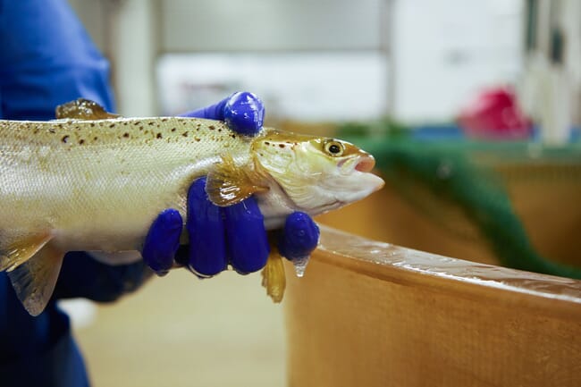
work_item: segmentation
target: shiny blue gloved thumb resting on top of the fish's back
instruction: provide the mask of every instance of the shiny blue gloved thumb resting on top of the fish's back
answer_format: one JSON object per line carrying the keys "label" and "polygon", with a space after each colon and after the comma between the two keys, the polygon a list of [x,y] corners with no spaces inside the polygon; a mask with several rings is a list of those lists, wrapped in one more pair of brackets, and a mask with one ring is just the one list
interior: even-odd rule
{"label": "shiny blue gloved thumb resting on top of the fish's back", "polygon": [[224,121],[231,130],[242,135],[254,136],[262,129],[265,106],[256,95],[242,91],[224,98],[215,105],[181,116]]}

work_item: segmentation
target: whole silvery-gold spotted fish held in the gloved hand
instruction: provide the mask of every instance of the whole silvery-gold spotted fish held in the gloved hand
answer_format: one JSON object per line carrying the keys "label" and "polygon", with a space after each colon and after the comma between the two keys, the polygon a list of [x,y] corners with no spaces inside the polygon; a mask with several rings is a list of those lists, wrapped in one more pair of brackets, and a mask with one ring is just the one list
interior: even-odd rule
{"label": "whole silvery-gold spotted fish held in the gloved hand", "polygon": [[[139,251],[161,211],[186,219],[189,186],[201,176],[217,206],[254,195],[266,230],[294,211],[323,214],[383,187],[373,156],[341,139],[125,118],[82,98],[59,105],[52,121],[0,120],[0,136],[0,271],[30,315],[46,307],[64,254]],[[280,301],[284,267],[271,257],[263,284]]]}

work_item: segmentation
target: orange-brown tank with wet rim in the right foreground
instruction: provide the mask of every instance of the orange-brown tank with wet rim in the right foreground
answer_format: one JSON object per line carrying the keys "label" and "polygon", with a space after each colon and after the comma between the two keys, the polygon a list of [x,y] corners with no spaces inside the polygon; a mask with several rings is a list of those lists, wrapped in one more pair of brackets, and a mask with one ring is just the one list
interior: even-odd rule
{"label": "orange-brown tank with wet rim in the right foreground", "polygon": [[322,228],[288,277],[290,386],[581,385],[581,282]]}

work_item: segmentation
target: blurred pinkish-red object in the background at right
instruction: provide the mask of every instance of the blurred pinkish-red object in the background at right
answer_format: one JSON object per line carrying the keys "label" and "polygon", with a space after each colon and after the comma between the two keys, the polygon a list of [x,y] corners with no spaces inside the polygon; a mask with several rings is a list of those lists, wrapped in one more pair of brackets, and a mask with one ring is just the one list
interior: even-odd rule
{"label": "blurred pinkish-red object in the background at right", "polygon": [[461,110],[458,122],[468,136],[478,139],[527,139],[533,132],[512,88],[484,90]]}

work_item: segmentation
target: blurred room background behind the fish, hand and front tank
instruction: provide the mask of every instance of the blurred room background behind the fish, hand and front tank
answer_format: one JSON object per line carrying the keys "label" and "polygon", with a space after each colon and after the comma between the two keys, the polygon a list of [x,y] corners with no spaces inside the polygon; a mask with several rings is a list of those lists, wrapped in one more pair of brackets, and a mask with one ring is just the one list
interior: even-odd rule
{"label": "blurred room background behind the fish, hand and front tank", "polygon": [[[248,90],[269,125],[369,148],[386,189],[320,222],[479,262],[580,264],[577,0],[70,3],[123,115]],[[282,307],[259,282],[171,273],[111,306],[69,303],[95,385],[284,385]]]}

